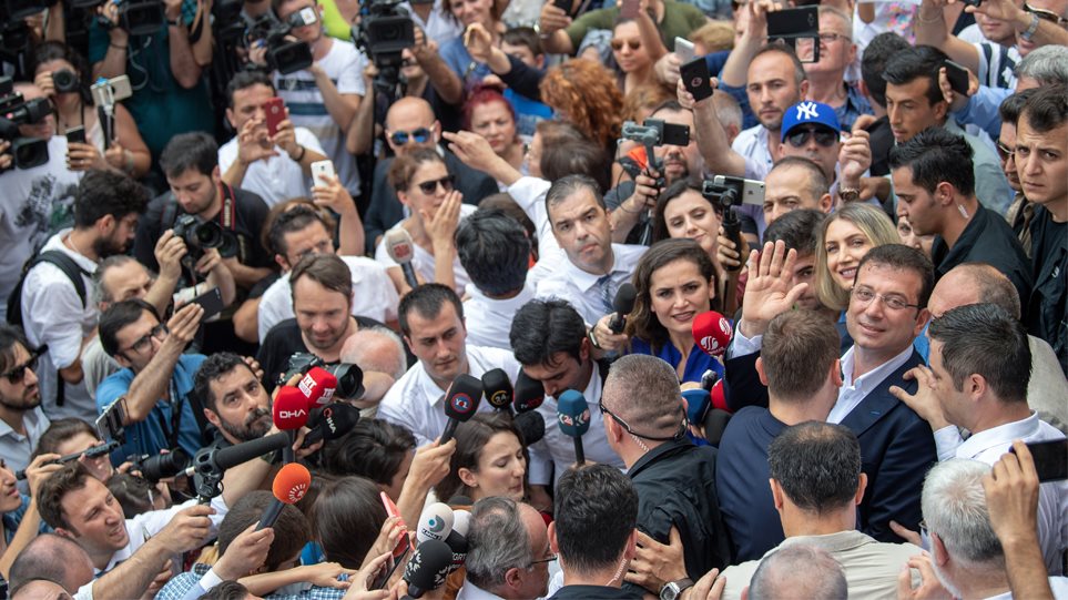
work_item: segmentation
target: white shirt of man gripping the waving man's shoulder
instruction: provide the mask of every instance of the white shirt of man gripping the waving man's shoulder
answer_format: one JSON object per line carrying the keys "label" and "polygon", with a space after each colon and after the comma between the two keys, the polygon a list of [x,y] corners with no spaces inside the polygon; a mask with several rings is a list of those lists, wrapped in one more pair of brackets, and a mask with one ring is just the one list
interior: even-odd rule
{"label": "white shirt of man gripping the waving man's shoulder", "polygon": [[[966,440],[953,425],[935,431],[938,460],[968,458],[990,466],[1009,451],[1016,439],[1030,444],[1065,439],[1065,435],[1039,419],[1034,410],[1026,419],[972,434]],[[1068,481],[1047,481],[1039,487],[1038,540],[1049,574],[1062,574],[1061,552],[1068,548]]]}

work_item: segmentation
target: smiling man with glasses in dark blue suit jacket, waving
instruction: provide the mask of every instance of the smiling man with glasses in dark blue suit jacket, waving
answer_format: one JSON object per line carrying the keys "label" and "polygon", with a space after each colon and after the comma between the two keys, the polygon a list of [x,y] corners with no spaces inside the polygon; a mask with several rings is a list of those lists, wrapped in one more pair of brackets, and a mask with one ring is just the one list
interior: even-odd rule
{"label": "smiling man with glasses in dark blue suit jacket, waving", "polygon": [[[750,266],[742,318],[726,363],[728,404],[734,409],[767,404],[767,390],[747,372],[761,337],[775,315],[793,307],[806,284],[790,287],[794,252],[780,243],[764,246]],[[842,356],[843,385],[828,423],[842,424],[861,443],[868,486],[860,506],[858,527],[881,540],[901,542],[889,527],[895,520],[918,527],[924,474],[936,461],[935,443],[916,413],[891,393],[914,390],[905,373],[923,364],[913,338],[927,323],[927,298],[934,266],[922,252],[899,244],[873,248],[861,261],[846,311],[854,345]],[[733,372],[733,373],[732,373]],[[755,385],[754,385],[755,384]]]}

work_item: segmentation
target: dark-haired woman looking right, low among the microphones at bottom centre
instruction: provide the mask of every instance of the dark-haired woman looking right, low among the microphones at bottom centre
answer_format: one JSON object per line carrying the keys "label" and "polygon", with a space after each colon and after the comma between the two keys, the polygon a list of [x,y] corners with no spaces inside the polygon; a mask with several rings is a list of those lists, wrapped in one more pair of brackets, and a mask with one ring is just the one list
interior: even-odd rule
{"label": "dark-haired woman looking right, low among the microphones at bottom centre", "polygon": [[526,495],[523,439],[510,415],[479,413],[456,428],[449,474],[435,486],[443,501],[461,495],[477,502],[490,496],[521,500]]}

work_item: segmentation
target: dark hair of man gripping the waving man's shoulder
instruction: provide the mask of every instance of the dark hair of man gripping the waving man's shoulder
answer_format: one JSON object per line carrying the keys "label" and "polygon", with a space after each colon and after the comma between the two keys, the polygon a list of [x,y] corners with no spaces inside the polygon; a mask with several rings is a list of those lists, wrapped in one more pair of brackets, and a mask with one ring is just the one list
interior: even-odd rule
{"label": "dark hair of man gripping the waving man's shoulder", "polygon": [[1027,403],[1030,343],[1024,325],[1005,308],[990,303],[950,308],[930,322],[927,335],[942,345],[942,364],[957,391],[967,377],[980,375],[1003,401]]}

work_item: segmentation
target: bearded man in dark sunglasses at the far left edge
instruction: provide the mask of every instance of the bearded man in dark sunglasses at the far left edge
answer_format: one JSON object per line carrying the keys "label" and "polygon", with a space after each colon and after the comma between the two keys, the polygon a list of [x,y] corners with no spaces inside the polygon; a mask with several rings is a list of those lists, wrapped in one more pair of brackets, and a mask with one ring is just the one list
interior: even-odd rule
{"label": "bearded man in dark sunglasses at the far left edge", "polygon": [[[0,456],[12,471],[30,464],[30,451],[48,429],[38,387],[38,354],[18,327],[0,324]],[[28,494],[23,479],[19,490]]]}

